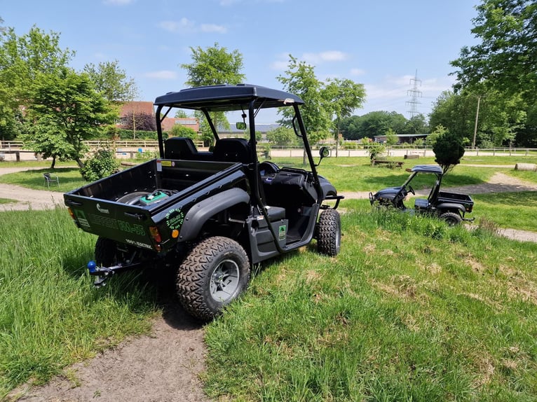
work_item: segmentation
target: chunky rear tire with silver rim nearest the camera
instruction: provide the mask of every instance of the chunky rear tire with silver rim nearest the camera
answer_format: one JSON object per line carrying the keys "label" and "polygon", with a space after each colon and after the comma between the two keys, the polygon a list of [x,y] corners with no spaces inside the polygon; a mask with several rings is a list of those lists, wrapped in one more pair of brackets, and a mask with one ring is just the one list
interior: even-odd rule
{"label": "chunky rear tire with silver rim nearest the camera", "polygon": [[177,296],[184,309],[210,321],[238,298],[250,282],[243,247],[228,237],[208,237],[186,255],[177,270]]}

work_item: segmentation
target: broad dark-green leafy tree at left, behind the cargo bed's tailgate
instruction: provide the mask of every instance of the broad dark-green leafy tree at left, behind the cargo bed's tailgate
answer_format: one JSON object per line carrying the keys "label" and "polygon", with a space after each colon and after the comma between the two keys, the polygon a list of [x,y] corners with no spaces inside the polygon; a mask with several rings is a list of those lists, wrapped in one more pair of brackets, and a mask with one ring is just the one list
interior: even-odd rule
{"label": "broad dark-green leafy tree at left, behind the cargo bed's tailgate", "polygon": [[[115,114],[107,101],[96,92],[87,74],[76,74],[62,68],[59,74],[40,74],[30,93],[28,118],[40,128],[40,134],[51,137],[51,144],[64,149],[58,155],[76,160],[83,167],[86,147],[83,141],[92,137],[104,125],[114,121]],[[39,148],[39,138],[28,134],[27,140]],[[57,137],[55,137],[57,136]],[[51,153],[56,151],[51,150]]]}

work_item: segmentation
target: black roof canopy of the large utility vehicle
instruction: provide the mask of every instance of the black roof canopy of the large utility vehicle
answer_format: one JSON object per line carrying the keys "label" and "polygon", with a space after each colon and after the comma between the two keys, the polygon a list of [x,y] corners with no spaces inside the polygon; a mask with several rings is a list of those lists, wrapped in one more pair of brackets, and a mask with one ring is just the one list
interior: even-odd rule
{"label": "black roof canopy of the large utility vehicle", "polygon": [[223,84],[168,92],[166,95],[157,97],[155,105],[208,111],[233,111],[247,109],[252,100],[254,100],[254,109],[304,104],[304,101],[297,95],[282,90],[250,84]]}

